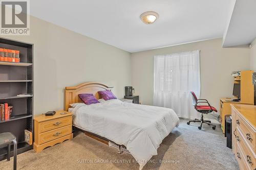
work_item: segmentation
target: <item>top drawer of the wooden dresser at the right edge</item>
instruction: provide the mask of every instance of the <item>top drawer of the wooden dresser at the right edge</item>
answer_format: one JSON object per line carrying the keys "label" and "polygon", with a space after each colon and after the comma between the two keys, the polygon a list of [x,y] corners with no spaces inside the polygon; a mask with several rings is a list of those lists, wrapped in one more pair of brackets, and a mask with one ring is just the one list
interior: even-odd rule
{"label": "top drawer of the wooden dresser at the right edge", "polygon": [[239,114],[236,115],[236,124],[240,128],[242,135],[244,136],[246,141],[249,143],[252,150],[255,152],[256,151],[255,133],[252,132],[252,130],[248,127],[248,125],[244,122],[244,120],[241,118]]}

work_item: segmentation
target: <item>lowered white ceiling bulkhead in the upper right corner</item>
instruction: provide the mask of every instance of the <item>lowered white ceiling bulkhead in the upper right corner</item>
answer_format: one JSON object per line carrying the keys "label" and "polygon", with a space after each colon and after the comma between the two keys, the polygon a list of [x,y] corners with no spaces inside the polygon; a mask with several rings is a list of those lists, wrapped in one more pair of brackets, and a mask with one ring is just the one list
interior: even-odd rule
{"label": "lowered white ceiling bulkhead in the upper right corner", "polygon": [[223,47],[249,44],[256,38],[256,1],[237,0],[234,3]]}

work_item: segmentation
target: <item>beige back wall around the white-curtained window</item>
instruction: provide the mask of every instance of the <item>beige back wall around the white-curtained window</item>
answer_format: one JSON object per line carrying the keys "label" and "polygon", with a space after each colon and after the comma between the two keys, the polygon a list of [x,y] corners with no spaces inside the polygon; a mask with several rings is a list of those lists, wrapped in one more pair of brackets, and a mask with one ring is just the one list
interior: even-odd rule
{"label": "beige back wall around the white-curtained window", "polygon": [[132,85],[142,104],[153,105],[154,55],[200,50],[201,97],[219,109],[219,99],[232,95],[231,72],[249,69],[250,50],[245,47],[222,48],[222,39],[132,53]]}

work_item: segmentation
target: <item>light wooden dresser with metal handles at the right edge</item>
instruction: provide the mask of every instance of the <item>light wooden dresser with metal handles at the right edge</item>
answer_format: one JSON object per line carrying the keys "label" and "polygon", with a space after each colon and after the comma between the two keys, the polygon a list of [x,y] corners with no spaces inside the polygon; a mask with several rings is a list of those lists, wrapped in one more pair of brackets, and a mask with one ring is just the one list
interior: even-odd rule
{"label": "light wooden dresser with metal handles at the right edge", "polygon": [[256,169],[256,106],[231,104],[232,151],[240,170]]}

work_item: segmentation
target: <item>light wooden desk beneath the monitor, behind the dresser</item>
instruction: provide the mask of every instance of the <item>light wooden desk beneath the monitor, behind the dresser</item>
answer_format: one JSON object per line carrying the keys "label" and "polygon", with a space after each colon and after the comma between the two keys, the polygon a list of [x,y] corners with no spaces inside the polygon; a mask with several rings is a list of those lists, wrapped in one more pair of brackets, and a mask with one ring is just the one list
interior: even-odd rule
{"label": "light wooden desk beneath the monitor, behind the dresser", "polygon": [[225,133],[225,115],[231,114],[231,106],[230,104],[246,104],[246,105],[252,105],[247,104],[243,102],[233,102],[230,98],[221,98],[220,99],[220,123],[221,123],[221,129],[222,132]]}

